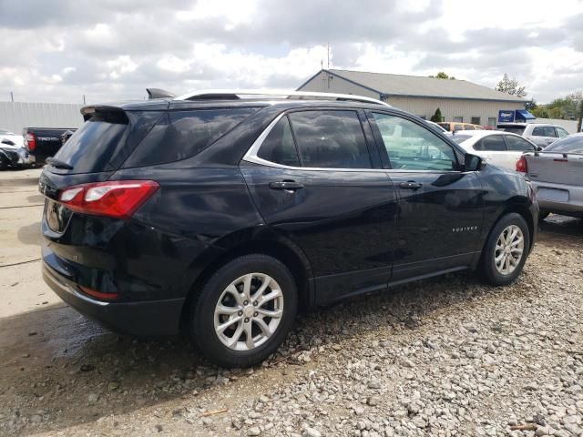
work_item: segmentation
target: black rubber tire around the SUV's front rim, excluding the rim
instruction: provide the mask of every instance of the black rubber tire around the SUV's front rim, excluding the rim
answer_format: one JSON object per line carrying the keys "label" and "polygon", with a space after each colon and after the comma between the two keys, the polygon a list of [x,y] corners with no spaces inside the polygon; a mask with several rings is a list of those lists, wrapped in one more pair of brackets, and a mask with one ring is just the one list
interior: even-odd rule
{"label": "black rubber tire around the SUV's front rim, excluding the rim", "polygon": [[[517,225],[520,230],[522,230],[523,238],[525,239],[524,251],[522,259],[518,263],[517,269],[515,269],[509,275],[503,275],[496,269],[496,263],[494,260],[494,252],[496,250],[496,241],[502,231],[510,225]],[[527,262],[528,252],[530,251],[530,230],[526,220],[517,213],[506,214],[504,217],[499,219],[494,225],[494,228],[490,232],[490,235],[486,241],[486,247],[482,253],[482,270],[484,276],[488,282],[493,285],[506,285],[514,280],[522,272],[522,269]]]}

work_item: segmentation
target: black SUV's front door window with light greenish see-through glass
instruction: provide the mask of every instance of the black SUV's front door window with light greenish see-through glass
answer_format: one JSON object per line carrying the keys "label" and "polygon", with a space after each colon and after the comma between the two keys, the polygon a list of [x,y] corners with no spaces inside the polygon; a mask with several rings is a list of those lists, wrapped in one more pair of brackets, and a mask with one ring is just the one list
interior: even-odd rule
{"label": "black SUV's front door window with light greenish see-through glass", "polygon": [[428,129],[405,118],[373,112],[391,168],[451,171],[457,168],[454,149]]}

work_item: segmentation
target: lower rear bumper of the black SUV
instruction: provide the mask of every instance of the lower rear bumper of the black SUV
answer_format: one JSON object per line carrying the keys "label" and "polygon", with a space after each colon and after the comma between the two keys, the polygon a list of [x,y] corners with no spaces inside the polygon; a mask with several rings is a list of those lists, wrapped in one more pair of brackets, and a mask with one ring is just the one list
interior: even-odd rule
{"label": "lower rear bumper of the black SUV", "polygon": [[109,330],[138,336],[173,335],[179,332],[184,299],[139,302],[104,302],[82,294],[77,284],[50,267],[43,259],[43,279],[75,310]]}

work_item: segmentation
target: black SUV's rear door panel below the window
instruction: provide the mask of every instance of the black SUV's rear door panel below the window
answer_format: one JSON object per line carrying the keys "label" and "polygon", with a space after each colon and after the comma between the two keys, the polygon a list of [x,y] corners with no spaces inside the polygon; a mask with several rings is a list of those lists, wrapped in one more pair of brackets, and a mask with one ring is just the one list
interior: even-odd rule
{"label": "black SUV's rear door panel below the window", "polygon": [[[396,219],[396,195],[384,170],[271,168],[245,161],[240,169],[265,222],[304,251],[314,277],[336,282],[332,276],[350,273],[349,283],[338,284],[338,295],[373,286],[371,275],[384,287],[394,259]],[[280,181],[303,187],[270,188]],[[333,292],[326,290],[326,298]]]}

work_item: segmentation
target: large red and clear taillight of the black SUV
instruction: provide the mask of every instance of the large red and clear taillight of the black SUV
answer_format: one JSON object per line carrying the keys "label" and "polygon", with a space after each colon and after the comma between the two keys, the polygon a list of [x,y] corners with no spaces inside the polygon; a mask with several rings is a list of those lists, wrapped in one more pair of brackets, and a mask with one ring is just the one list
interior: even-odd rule
{"label": "large red and clear taillight of the black SUV", "polygon": [[81,214],[129,219],[158,188],[153,180],[97,182],[64,188],[58,200]]}

